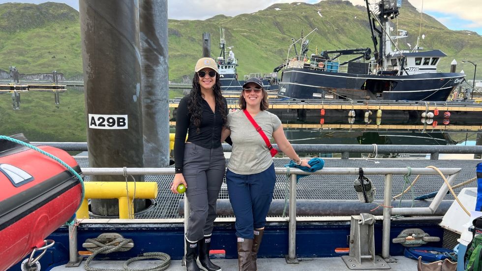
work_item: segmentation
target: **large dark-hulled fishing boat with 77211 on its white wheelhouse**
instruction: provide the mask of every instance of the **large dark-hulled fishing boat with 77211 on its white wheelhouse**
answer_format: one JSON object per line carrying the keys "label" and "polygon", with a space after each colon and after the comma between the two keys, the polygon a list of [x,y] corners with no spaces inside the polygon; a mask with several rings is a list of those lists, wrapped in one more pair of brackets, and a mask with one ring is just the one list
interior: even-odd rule
{"label": "large dark-hulled fishing boat with 77211 on its white wheelhouse", "polygon": [[[365,3],[373,51],[371,48],[356,48],[308,55],[308,34],[290,46],[287,60],[274,69],[275,72],[282,71],[279,97],[447,100],[463,82],[465,74],[439,71],[440,59],[447,56],[440,50],[424,50],[418,42],[413,50],[399,49],[395,40],[406,38],[407,32],[399,30],[396,36],[392,36],[390,21],[398,17],[401,0],[382,0],[374,10],[368,0]],[[301,43],[300,52],[296,51],[297,43]],[[294,55],[291,48],[295,49]],[[339,60],[341,56],[356,57],[344,61]]]}

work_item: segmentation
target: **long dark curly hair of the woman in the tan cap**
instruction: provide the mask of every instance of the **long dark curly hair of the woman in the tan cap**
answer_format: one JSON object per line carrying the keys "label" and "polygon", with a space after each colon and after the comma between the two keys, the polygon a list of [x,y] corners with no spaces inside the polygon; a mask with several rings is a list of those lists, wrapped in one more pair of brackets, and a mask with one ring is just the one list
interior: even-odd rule
{"label": "long dark curly hair of the woman in the tan cap", "polygon": [[[228,112],[225,110],[225,104],[223,101],[223,96],[221,94],[221,82],[219,81],[219,74],[216,73],[216,81],[212,87],[212,92],[214,92],[214,101],[216,108],[219,108],[221,112],[221,118],[223,120],[223,125],[226,124]],[[201,121],[203,120],[202,108],[203,108],[203,96],[201,95],[201,86],[199,86],[199,76],[194,73],[192,78],[192,89],[190,93],[189,102],[187,103],[187,112],[191,115],[191,122],[197,127],[197,132],[200,132]]]}

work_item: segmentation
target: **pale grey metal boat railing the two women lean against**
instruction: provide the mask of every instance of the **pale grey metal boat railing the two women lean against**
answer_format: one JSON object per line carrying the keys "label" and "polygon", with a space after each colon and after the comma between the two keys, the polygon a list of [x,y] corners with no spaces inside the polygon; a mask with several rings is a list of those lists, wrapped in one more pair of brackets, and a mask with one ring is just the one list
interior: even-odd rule
{"label": "pale grey metal boat railing the two women lean against", "polygon": [[[392,215],[433,215],[437,210],[445,195],[449,191],[449,186],[452,185],[457,175],[460,173],[461,168],[440,168],[437,171],[435,168],[363,168],[363,174],[367,176],[382,175],[384,177],[384,190],[383,190],[383,215],[376,216],[376,219],[383,220],[382,228],[382,257],[388,258],[390,256],[390,229]],[[287,221],[288,226],[288,238],[289,238],[289,253],[288,261],[296,261],[296,223],[299,220],[297,217],[297,177],[299,175],[353,175],[358,176],[360,174],[359,168],[324,168],[316,172],[304,172],[296,168],[275,168],[277,175],[286,175],[289,182],[289,211],[288,217],[285,217],[284,221]],[[82,168],[84,175],[174,175],[174,168]],[[445,182],[442,182],[441,187],[438,189],[434,199],[428,207],[394,207],[392,206],[392,180],[394,175],[444,175],[447,176]],[[355,178],[354,178],[355,179]],[[184,204],[184,227],[186,229],[189,217],[189,203],[186,201]],[[125,221],[125,220],[123,220]],[[135,222],[133,222],[135,221]],[[122,223],[122,220],[113,219],[111,223]],[[148,220],[147,223],[152,223],[152,220]],[[89,223],[85,221],[84,223]],[[96,223],[102,223],[97,221]],[[107,223],[104,221],[104,223]],[[131,223],[142,223],[142,219],[131,220]],[[77,256],[77,237],[76,229],[74,226],[69,227],[72,234],[69,239],[70,255],[71,257]]]}

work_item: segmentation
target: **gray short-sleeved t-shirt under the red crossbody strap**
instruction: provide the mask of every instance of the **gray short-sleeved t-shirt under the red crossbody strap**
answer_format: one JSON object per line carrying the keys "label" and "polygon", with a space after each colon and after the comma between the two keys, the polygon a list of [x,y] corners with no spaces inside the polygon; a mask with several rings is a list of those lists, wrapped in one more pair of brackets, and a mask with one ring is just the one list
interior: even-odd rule
{"label": "gray short-sleeved t-shirt under the red crossbody strap", "polygon": [[[271,139],[273,132],[281,125],[281,120],[268,111],[261,111],[253,119],[268,139]],[[271,153],[246,115],[241,110],[228,114],[227,125],[233,141],[228,169],[242,175],[256,174],[268,169],[273,163]]]}

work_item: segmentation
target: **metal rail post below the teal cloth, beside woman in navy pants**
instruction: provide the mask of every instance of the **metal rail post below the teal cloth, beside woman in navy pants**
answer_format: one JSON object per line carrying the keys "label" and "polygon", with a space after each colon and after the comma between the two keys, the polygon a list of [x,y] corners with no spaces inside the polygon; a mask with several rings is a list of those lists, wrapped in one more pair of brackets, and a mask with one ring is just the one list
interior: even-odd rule
{"label": "metal rail post below the teal cloth, beside woman in navy pants", "polygon": [[290,174],[290,210],[289,210],[289,226],[288,226],[288,255],[286,263],[298,264],[296,257],[296,174]]}

